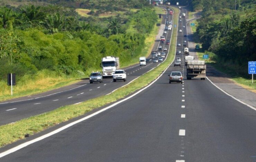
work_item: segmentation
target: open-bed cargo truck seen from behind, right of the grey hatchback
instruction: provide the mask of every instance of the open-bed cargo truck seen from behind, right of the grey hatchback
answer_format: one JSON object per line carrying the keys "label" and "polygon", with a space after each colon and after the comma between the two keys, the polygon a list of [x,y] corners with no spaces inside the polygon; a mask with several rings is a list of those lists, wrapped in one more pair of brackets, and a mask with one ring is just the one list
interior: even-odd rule
{"label": "open-bed cargo truck seen from behind, right of the grey hatchback", "polygon": [[206,65],[201,60],[188,60],[187,62],[187,79],[200,78],[205,80],[206,77]]}

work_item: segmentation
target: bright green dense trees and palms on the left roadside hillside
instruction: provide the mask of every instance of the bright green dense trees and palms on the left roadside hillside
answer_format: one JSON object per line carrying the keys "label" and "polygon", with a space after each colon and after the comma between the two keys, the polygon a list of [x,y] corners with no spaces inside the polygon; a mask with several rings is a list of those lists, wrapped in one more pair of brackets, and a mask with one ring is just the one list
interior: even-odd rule
{"label": "bright green dense trees and palms on the left roadside hillside", "polygon": [[[93,6],[91,3],[99,1],[82,2]],[[124,2],[117,0],[115,4],[121,7]],[[124,3],[123,7],[137,4],[133,2]],[[113,1],[105,4],[112,5]],[[141,53],[157,15],[152,8],[143,7],[127,13],[125,21],[118,16],[104,21],[106,27],[92,25],[81,21],[74,8],[60,6],[1,7],[0,79],[9,72],[16,73],[19,79],[45,69],[58,75],[81,76],[99,69],[101,58],[106,55],[120,57],[122,64]]]}

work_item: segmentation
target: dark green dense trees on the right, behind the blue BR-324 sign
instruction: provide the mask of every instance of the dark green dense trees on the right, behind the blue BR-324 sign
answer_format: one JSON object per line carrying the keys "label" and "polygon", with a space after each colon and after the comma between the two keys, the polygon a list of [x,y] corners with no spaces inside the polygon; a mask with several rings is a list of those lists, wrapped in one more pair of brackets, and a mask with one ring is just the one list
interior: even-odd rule
{"label": "dark green dense trees on the right, behind the blue BR-324 sign", "polygon": [[192,0],[192,7],[202,10],[197,34],[203,50],[248,76],[248,61],[256,60],[256,0],[236,0],[236,10],[235,0]]}

